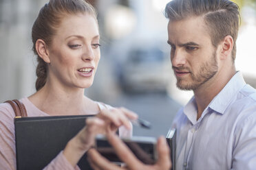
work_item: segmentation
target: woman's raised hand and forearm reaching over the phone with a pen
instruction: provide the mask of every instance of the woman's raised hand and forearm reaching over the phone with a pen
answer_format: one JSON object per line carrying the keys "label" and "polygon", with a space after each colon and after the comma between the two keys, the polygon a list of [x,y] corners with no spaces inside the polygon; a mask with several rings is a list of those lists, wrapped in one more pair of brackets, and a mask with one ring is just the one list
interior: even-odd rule
{"label": "woman's raised hand and forearm reaching over the phone with a pen", "polygon": [[94,145],[97,134],[115,133],[118,127],[124,125],[131,129],[130,119],[137,119],[137,114],[125,108],[113,108],[101,110],[96,117],[89,117],[85,121],[85,127],[74,136],[63,150],[67,160],[75,166],[80,158],[90,147]]}

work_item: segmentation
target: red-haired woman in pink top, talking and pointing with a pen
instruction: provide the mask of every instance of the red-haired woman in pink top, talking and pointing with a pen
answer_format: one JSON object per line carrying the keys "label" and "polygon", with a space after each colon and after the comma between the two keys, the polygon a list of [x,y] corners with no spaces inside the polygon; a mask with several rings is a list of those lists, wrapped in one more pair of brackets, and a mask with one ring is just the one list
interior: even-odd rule
{"label": "red-haired woman in pink top, talking and pointing with a pen", "polygon": [[[50,0],[32,27],[33,50],[37,56],[36,93],[23,102],[28,117],[97,114],[45,169],[78,169],[77,162],[92,147],[94,137],[106,130],[131,135],[129,110],[110,109],[84,95],[100,60],[100,36],[94,8],[83,0]],[[0,105],[0,167],[16,169],[14,111]]]}

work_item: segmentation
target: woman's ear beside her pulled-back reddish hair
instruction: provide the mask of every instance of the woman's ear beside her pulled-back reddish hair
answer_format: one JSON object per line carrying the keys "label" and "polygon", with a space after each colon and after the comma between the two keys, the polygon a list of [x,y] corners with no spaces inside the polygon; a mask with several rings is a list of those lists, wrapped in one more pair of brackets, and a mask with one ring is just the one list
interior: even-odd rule
{"label": "woman's ear beside her pulled-back reddish hair", "polygon": [[44,40],[38,39],[36,40],[36,51],[46,63],[50,63],[49,51],[47,49],[47,45]]}

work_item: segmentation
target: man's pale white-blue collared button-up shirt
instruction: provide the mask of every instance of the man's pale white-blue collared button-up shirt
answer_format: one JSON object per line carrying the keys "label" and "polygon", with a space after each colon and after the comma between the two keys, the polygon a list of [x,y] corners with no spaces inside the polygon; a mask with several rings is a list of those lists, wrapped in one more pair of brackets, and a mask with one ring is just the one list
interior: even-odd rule
{"label": "man's pale white-blue collared button-up shirt", "polygon": [[237,72],[197,121],[195,98],[176,115],[176,169],[256,169],[256,90]]}

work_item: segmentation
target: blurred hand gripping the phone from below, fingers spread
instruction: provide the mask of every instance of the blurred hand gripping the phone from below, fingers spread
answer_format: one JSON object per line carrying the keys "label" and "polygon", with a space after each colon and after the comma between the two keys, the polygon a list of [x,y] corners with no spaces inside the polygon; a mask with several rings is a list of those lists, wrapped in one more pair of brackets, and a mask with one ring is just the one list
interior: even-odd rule
{"label": "blurred hand gripping the phone from below, fingers spread", "polygon": [[120,160],[125,162],[125,167],[118,167],[113,163],[109,162],[106,158],[101,156],[96,149],[89,149],[88,160],[92,168],[106,169],[106,170],[121,170],[121,169],[147,169],[147,170],[169,170],[171,169],[171,159],[169,146],[166,143],[165,138],[162,136],[158,138],[158,161],[155,165],[145,165],[140,160],[134,156],[131,150],[123,143],[118,136],[114,133],[108,133],[107,139],[109,143],[113,146],[116,154],[119,156]]}

